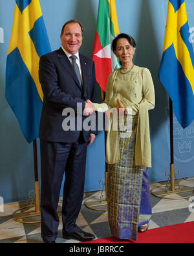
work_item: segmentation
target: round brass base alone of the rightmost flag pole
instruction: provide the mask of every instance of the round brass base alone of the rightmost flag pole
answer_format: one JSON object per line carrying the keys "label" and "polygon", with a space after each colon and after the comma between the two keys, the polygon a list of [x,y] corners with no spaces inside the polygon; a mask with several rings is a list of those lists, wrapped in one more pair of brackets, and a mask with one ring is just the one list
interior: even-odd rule
{"label": "round brass base alone of the rightmost flag pole", "polygon": [[[152,188],[151,189],[151,194],[153,194],[154,196],[156,196],[158,198],[164,198],[164,199],[186,199],[186,198],[190,198],[191,196],[194,195],[193,188],[191,188],[189,186],[179,185],[178,181],[177,181],[177,185],[175,185],[174,164],[171,164],[170,177],[171,177],[171,183],[170,184],[167,183],[166,185],[160,185],[160,186],[156,186],[155,188]],[[153,190],[155,190],[157,188],[162,188],[162,187],[166,188],[166,189],[161,189],[160,191],[153,192]],[[192,192],[192,194],[189,195],[189,196],[182,197],[182,198],[167,197],[169,195],[185,193],[185,192]]]}

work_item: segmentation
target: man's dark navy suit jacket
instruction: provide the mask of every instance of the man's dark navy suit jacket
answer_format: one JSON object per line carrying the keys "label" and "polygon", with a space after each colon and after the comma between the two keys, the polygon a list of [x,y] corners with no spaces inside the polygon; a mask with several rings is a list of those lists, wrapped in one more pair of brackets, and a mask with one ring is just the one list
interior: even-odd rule
{"label": "man's dark navy suit jacket", "polygon": [[[96,102],[96,76],[94,62],[80,54],[81,71],[83,77],[82,88],[76,73],[70,64],[63,49],[59,48],[52,53],[47,53],[39,61],[39,81],[43,89],[43,109],[39,129],[39,138],[51,142],[75,142],[80,136],[77,122],[87,118],[77,113],[77,103],[81,105],[81,112],[85,108],[85,100]],[[63,109],[71,108],[75,115],[69,116],[70,122],[74,122],[76,131],[64,131],[62,116]],[[80,121],[81,122],[81,121]],[[85,142],[89,141],[89,134],[97,134],[95,131],[83,130]]]}

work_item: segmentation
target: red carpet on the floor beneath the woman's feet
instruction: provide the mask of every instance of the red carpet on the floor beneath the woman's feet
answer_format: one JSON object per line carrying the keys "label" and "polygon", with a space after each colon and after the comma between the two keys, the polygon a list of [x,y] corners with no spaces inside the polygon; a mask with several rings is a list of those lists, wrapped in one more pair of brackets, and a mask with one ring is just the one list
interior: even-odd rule
{"label": "red carpet on the floor beneath the woman's feet", "polygon": [[[92,243],[130,243],[133,240],[120,240],[114,237],[93,240]],[[169,225],[149,229],[145,233],[138,233],[136,243],[193,243],[194,222]]]}

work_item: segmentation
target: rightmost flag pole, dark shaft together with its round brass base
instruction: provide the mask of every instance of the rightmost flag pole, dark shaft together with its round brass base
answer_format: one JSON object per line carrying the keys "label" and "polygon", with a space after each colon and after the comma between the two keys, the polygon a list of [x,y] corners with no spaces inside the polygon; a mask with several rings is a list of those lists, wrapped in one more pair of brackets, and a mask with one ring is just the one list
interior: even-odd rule
{"label": "rightmost flag pole, dark shaft together with its round brass base", "polygon": [[[193,188],[188,187],[188,186],[183,186],[179,185],[177,181],[177,187],[175,188],[175,166],[174,166],[174,138],[173,138],[173,101],[169,97],[169,130],[170,130],[170,156],[171,156],[171,161],[170,161],[170,172],[169,172],[169,179],[170,179],[170,184],[167,182],[165,185],[160,185],[156,186],[155,188],[151,189],[151,194],[158,198],[165,198],[165,199],[185,199],[193,196],[193,194],[189,196],[185,196],[182,198],[166,198],[167,195],[170,194],[178,194],[178,193],[183,193],[183,192],[194,192]],[[182,188],[180,188],[182,186]],[[166,189],[162,189],[160,191],[153,192],[154,189],[156,188],[161,188],[165,187]]]}

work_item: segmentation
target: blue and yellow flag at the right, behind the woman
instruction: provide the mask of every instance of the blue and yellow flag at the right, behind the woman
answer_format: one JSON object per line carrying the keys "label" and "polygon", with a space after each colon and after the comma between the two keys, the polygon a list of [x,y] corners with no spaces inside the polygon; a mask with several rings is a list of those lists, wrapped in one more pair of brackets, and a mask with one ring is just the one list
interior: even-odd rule
{"label": "blue and yellow flag at the right, behind the woman", "polygon": [[178,122],[194,120],[194,54],[184,0],[169,0],[159,78],[173,101]]}

